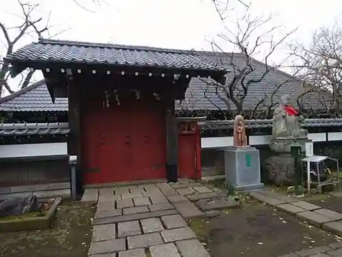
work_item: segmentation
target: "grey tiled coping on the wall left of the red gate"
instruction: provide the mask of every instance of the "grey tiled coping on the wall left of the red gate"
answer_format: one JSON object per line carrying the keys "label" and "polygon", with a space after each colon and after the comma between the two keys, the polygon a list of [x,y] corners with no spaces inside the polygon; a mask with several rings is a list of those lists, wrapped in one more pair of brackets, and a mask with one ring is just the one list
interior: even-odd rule
{"label": "grey tiled coping on the wall left of the red gate", "polygon": [[1,123],[0,136],[66,135],[68,123]]}

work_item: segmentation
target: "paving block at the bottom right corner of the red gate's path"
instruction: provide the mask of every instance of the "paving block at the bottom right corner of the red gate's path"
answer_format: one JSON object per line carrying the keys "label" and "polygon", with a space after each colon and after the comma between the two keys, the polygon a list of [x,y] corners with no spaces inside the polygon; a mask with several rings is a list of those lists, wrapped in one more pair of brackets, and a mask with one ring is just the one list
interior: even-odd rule
{"label": "paving block at the bottom right corner of the red gate's path", "polygon": [[176,246],[183,257],[210,257],[198,239],[177,241]]}

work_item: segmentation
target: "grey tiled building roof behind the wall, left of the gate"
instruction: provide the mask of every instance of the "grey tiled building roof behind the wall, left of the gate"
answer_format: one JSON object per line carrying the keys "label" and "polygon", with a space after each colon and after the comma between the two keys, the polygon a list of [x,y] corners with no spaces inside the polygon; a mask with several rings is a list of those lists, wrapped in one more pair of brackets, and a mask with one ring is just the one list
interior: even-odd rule
{"label": "grey tiled building roof behind the wall, left of the gate", "polygon": [[68,110],[68,99],[57,98],[55,103],[44,79],[0,99],[0,111],[5,112],[58,112]]}

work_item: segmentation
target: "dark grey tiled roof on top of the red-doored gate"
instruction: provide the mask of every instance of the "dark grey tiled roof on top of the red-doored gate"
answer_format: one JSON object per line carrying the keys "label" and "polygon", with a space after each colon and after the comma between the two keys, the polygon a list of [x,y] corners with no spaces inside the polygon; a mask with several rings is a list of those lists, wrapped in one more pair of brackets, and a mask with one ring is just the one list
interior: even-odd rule
{"label": "dark grey tiled roof on top of the red-doored gate", "polygon": [[10,53],[13,62],[106,64],[166,69],[220,71],[224,67],[195,51],[40,39]]}

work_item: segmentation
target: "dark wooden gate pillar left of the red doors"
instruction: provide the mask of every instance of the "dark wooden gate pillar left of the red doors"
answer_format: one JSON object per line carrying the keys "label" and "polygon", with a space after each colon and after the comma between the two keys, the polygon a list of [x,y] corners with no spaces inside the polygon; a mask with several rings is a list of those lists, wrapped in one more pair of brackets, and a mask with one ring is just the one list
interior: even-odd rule
{"label": "dark wooden gate pillar left of the red doors", "polygon": [[77,156],[76,187],[77,194],[83,193],[83,176],[81,173],[81,137],[80,137],[80,92],[75,86],[73,73],[66,70],[68,83],[68,121],[70,133],[68,136],[68,154]]}

